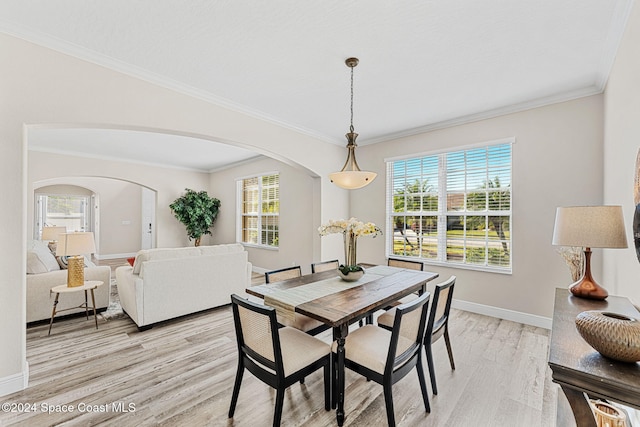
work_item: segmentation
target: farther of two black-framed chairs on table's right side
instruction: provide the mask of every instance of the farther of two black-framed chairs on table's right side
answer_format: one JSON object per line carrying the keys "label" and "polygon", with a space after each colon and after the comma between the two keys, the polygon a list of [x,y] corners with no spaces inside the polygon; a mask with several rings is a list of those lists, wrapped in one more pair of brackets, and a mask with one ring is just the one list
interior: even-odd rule
{"label": "farther of two black-framed chairs on table's right side", "polygon": [[[451,301],[453,299],[453,289],[456,284],[456,276],[451,276],[444,282],[437,284],[433,291],[431,310],[429,311],[429,321],[424,336],[424,349],[427,354],[427,366],[429,367],[429,377],[431,378],[431,388],[433,394],[438,394],[436,386],[436,373],[433,365],[432,344],[444,337],[444,342],[449,354],[449,364],[451,369],[456,369],[453,361],[453,350],[449,339],[449,312],[451,311]],[[396,309],[391,309],[378,317],[378,326],[391,330]]]}

